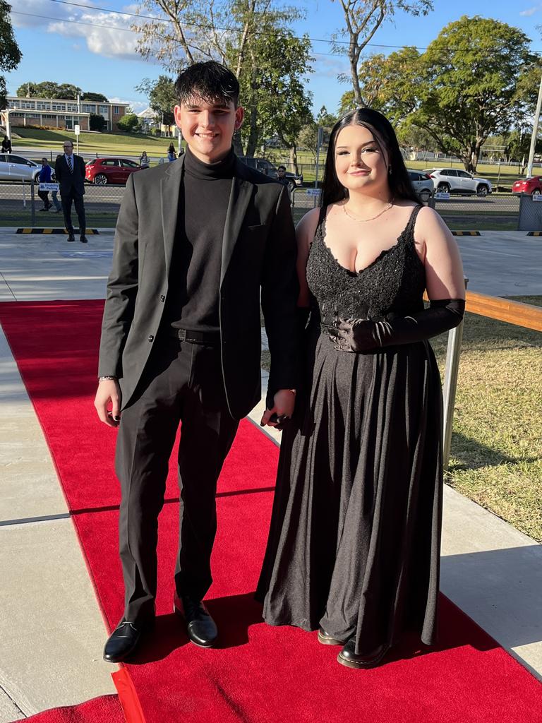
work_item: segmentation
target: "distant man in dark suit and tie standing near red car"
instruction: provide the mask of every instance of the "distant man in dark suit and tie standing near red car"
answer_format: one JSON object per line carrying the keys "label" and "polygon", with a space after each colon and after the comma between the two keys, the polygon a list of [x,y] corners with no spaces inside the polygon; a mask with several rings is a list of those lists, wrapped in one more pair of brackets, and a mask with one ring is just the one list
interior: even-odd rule
{"label": "distant man in dark suit and tie standing near red car", "polygon": [[79,219],[79,234],[82,244],[87,243],[85,231],[85,161],[80,155],[74,155],[74,145],[71,140],[64,141],[64,153],[56,158],[55,177],[60,184],[62,209],[64,210],[64,226],[68,231],[68,241],[75,241],[74,227],[72,225],[72,202]]}

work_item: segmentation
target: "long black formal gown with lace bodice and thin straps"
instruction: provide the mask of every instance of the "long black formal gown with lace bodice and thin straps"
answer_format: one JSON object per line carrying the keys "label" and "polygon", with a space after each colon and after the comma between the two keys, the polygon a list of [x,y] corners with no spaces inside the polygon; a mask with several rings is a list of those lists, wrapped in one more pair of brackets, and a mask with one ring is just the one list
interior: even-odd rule
{"label": "long black formal gown with lace bodice and thin straps", "polygon": [[423,309],[419,208],[397,244],[359,273],[335,260],[320,215],[306,266],[319,311],[311,384],[283,432],[257,590],[270,625],[355,635],[361,654],[392,646],[405,629],[435,641],[442,393],[428,342],[350,354],[334,348],[327,329],[337,316]]}

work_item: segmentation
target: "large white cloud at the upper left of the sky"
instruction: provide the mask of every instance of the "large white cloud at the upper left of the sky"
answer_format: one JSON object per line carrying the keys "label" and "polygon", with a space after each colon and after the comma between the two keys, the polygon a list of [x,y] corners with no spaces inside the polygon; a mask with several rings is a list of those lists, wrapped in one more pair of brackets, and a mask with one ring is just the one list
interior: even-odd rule
{"label": "large white cloud at the upper left of the sky", "polygon": [[[90,0],[78,0],[87,6],[79,8],[59,5],[47,0],[19,0],[17,11],[33,15],[52,17],[54,20],[44,20],[43,17],[28,17],[14,13],[12,20],[18,27],[43,27],[51,35],[61,35],[64,38],[81,38],[85,41],[87,49],[96,55],[106,58],[123,60],[140,60],[136,52],[137,33],[130,30],[132,21],[126,15],[100,12],[93,10],[95,3]],[[134,12],[135,6],[123,8],[126,12]],[[103,26],[107,27],[103,27]],[[102,27],[98,27],[102,26]]]}

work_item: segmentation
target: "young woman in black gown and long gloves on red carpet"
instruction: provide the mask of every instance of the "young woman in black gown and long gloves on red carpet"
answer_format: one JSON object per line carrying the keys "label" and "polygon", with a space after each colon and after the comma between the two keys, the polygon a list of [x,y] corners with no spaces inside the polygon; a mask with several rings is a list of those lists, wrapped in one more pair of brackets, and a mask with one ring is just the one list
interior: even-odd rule
{"label": "young woman in black gown and long gloves on red carpet", "polygon": [[370,109],[333,128],[322,208],[297,238],[311,363],[283,433],[258,595],[267,623],[319,628],[338,662],[373,667],[406,629],[435,640],[442,397],[427,339],[460,323],[463,268]]}

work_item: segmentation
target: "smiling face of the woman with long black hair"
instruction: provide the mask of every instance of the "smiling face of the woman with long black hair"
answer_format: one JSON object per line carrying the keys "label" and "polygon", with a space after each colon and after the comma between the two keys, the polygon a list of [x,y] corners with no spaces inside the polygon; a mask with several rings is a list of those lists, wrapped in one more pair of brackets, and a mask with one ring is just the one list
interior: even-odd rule
{"label": "smiling face of the woman with long black hair", "polygon": [[349,191],[387,192],[388,163],[383,142],[377,142],[368,128],[356,124],[337,134],[335,172]]}

